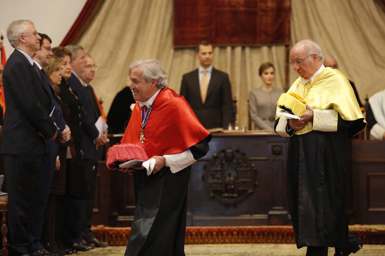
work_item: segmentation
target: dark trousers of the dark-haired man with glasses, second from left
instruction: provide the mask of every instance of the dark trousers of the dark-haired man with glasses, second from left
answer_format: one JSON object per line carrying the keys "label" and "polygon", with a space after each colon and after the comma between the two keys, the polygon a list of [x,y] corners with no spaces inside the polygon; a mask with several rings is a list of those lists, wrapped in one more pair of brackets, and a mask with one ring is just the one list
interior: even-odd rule
{"label": "dark trousers of the dark-haired man with glasses, second from left", "polygon": [[46,153],[43,155],[41,175],[37,182],[37,190],[35,193],[35,204],[32,206],[32,218],[30,223],[31,232],[30,240],[33,241],[35,251],[43,249],[40,243],[44,225],[44,211],[51,188],[52,178],[55,173],[57,152]]}

